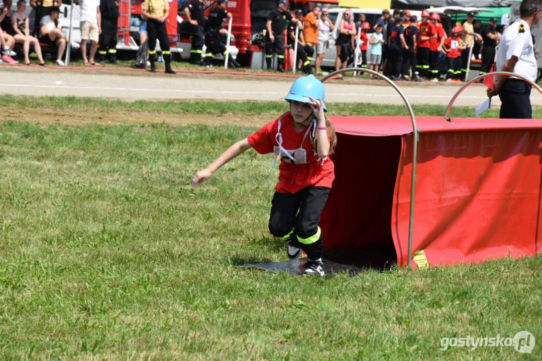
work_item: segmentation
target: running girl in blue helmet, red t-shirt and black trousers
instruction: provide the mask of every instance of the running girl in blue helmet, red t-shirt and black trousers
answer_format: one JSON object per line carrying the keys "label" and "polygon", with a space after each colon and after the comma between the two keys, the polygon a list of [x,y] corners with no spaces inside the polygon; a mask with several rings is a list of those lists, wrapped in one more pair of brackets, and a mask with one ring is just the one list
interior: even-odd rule
{"label": "running girl in blue helmet, red t-shirt and black trousers", "polygon": [[271,201],[269,231],[288,241],[287,254],[307,254],[304,274],[324,275],[320,214],[335,178],[329,155],[337,144],[333,124],[324,116],[325,91],[314,75],[298,78],[285,100],[290,111],[228,148],[209,167],[199,170],[192,186],[210,178],[225,163],[250,148],[280,157],[279,182]]}

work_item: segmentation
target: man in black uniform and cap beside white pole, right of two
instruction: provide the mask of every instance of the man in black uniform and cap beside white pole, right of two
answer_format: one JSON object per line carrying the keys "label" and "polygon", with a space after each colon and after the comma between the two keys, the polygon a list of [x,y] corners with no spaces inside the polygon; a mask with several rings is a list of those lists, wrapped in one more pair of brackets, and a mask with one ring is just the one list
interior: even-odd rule
{"label": "man in black uniform and cap beside white pole, right of two", "polygon": [[[207,54],[205,54],[205,65],[211,65],[211,60],[214,55],[222,54],[226,57],[226,29],[222,26],[224,18],[231,18],[231,13],[226,11],[227,0],[218,0],[218,6],[212,9],[209,13],[209,19],[205,25],[205,46]],[[228,65],[231,68],[238,68],[240,64],[231,56],[228,57]]]}

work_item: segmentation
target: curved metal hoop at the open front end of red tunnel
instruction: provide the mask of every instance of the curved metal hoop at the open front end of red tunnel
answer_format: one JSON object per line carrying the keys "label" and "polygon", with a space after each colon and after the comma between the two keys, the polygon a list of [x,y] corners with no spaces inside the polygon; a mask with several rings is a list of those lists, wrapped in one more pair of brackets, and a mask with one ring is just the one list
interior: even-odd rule
{"label": "curved metal hoop at the open front end of red tunnel", "polygon": [[410,105],[410,102],[408,99],[406,99],[406,95],[404,95],[403,91],[399,89],[397,84],[395,82],[392,82],[390,78],[377,73],[374,70],[366,69],[366,68],[360,68],[360,69],[354,69],[354,68],[345,68],[345,69],[339,69],[336,71],[333,71],[333,73],[325,76],[322,78],[322,83],[328,80],[329,78],[341,74],[346,73],[347,71],[353,71],[358,70],[360,73],[369,73],[372,75],[378,76],[380,79],[385,80],[390,84],[393,89],[399,93],[399,95],[403,98],[403,101],[406,105],[406,108],[408,108],[409,114],[410,114],[410,120],[412,121],[412,134],[414,135],[414,140],[412,141],[412,177],[410,179],[410,215],[409,215],[409,226],[408,226],[408,260],[406,261],[406,266],[411,267],[412,266],[412,230],[414,229],[414,194],[415,194],[415,186],[416,186],[416,162],[417,162],[417,156],[418,156],[418,142],[420,141],[420,130],[418,130],[416,126],[416,118],[414,116],[414,110],[412,110],[412,106]]}

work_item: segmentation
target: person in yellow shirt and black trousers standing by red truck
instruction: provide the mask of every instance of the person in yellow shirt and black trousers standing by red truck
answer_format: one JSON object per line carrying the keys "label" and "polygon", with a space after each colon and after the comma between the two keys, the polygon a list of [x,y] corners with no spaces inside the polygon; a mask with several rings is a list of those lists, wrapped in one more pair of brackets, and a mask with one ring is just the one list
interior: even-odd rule
{"label": "person in yellow shirt and black trousers standing by red truck", "polygon": [[156,73],[156,41],[158,40],[166,64],[166,73],[176,74],[171,69],[171,51],[165,23],[169,16],[167,0],[145,0],[143,6],[141,6],[141,14],[147,19],[147,42],[149,44],[149,61],[151,62],[152,73]]}

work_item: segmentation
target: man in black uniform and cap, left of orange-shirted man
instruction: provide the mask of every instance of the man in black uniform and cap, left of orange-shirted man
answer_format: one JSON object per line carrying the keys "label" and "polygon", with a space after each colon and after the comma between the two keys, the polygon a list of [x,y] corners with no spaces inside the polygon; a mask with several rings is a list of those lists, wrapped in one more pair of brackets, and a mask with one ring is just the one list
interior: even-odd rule
{"label": "man in black uniform and cap, left of orange-shirted man", "polygon": [[292,17],[288,12],[289,3],[286,0],[279,1],[278,9],[269,11],[266,24],[266,63],[267,69],[271,69],[271,60],[273,58],[273,50],[276,52],[277,67],[276,70],[284,73],[282,64],[284,64],[284,37],[282,36],[282,30],[284,30],[284,23],[286,19],[290,22],[299,24],[298,19]]}

